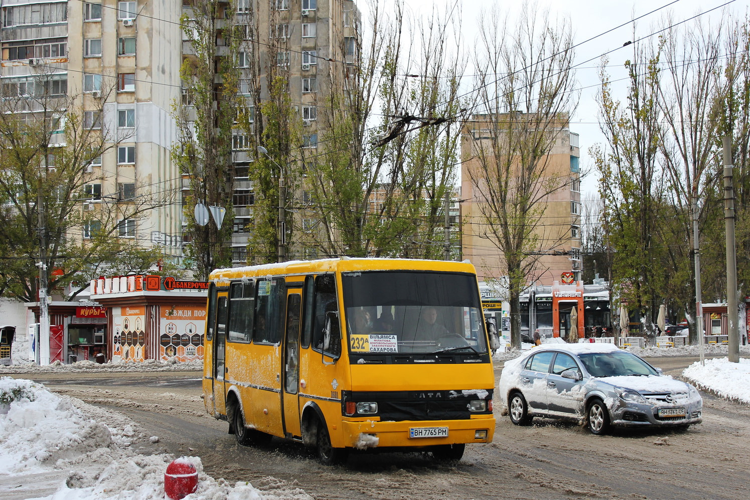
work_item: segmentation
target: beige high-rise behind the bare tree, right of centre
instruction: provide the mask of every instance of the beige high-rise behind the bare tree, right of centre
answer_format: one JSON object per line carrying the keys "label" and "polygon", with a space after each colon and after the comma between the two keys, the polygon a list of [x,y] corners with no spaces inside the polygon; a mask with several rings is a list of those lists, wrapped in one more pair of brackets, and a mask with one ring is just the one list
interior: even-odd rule
{"label": "beige high-rise behind the bare tree, right of centre", "polygon": [[[507,154],[508,140],[503,123],[510,123],[507,115],[474,115],[464,124],[461,139],[462,156],[465,159],[461,166],[461,246],[463,258],[469,259],[477,268],[480,280],[499,279],[507,275],[504,256],[493,245],[492,231],[488,230],[484,216],[487,198],[492,189],[482,182],[478,188],[472,178],[483,178],[482,162],[490,163],[498,151]],[[529,121],[529,123],[533,123]],[[501,125],[498,125],[501,124]],[[578,172],[578,134],[570,131],[567,118],[559,124],[545,123],[550,148],[539,160],[535,173],[520,175],[520,161],[516,158],[503,158],[500,163],[509,165],[505,189],[510,193],[508,199],[514,199],[516,185],[527,183],[534,187],[529,190],[529,199],[534,199],[533,211],[538,213],[538,220],[533,223],[533,248],[528,247],[526,261],[535,261],[530,265],[531,272],[526,279],[529,283],[550,286],[554,281],[574,283],[580,280],[580,178]],[[514,166],[513,166],[514,165]],[[504,172],[503,166],[497,172]],[[534,178],[534,176],[538,176]],[[523,189],[523,188],[521,188]],[[499,205],[501,193],[495,193],[491,203]],[[512,211],[512,210],[511,210]],[[514,223],[511,220],[511,223]]]}

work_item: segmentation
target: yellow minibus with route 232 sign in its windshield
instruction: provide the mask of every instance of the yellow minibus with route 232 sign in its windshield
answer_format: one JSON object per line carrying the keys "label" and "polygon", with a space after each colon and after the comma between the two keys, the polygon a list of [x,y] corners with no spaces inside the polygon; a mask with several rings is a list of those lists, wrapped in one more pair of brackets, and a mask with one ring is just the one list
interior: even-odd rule
{"label": "yellow minibus with route 232 sign in its windshield", "polygon": [[492,441],[494,376],[469,262],[323,259],[211,273],[203,397],[242,444],[292,439],[460,460]]}

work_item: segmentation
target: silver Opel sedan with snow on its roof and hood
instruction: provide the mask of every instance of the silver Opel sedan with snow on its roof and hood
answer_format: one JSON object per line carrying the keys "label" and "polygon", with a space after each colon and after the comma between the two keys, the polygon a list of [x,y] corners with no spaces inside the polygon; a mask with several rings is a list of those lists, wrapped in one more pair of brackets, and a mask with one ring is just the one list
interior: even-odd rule
{"label": "silver Opel sedan with snow on its roof and hood", "polygon": [[547,344],[506,361],[498,395],[516,425],[562,418],[597,435],[610,426],[687,428],[703,409],[692,385],[607,343]]}

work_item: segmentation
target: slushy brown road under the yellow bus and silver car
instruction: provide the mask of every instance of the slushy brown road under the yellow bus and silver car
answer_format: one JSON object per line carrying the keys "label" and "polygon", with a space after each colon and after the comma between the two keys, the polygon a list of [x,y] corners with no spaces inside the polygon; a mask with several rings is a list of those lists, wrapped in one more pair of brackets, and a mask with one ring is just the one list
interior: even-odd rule
{"label": "slushy brown road under the yellow bus and silver car", "polygon": [[[650,361],[677,375],[694,358]],[[420,454],[381,454],[330,468],[295,443],[238,447],[227,424],[205,414],[195,371],[20,377],[133,418],[142,427],[133,446],[142,453],[198,456],[208,475],[269,493],[296,485],[317,499],[737,499],[750,475],[750,408],[706,394],[703,424],[685,433],[595,437],[553,421],[515,427],[498,415],[494,442],[467,447],[455,467]]]}

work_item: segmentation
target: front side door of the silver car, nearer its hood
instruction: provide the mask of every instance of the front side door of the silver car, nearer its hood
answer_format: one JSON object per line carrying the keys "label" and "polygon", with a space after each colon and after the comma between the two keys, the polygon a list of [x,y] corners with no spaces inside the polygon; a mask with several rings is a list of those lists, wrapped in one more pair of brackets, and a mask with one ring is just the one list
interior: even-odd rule
{"label": "front side door of the silver car, nearer its hood", "polygon": [[583,397],[586,395],[583,380],[562,376],[562,372],[570,369],[583,373],[572,356],[558,352],[547,376],[547,410],[550,417],[577,418],[583,415]]}

